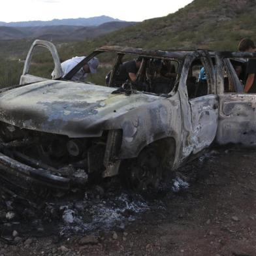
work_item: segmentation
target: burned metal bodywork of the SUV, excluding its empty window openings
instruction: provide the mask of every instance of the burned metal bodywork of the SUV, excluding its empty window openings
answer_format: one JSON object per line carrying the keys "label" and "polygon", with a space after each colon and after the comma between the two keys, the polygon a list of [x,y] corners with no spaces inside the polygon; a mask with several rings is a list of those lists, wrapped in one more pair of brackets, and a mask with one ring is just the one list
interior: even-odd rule
{"label": "burned metal bodywork of the SUV, excluding its empty window openings", "polygon": [[[157,95],[150,91],[138,91],[132,86],[127,91],[125,88],[69,80],[43,80],[30,76],[29,63],[37,45],[48,48],[52,53],[55,62],[54,78],[60,78],[62,75],[56,48],[49,42],[37,40],[27,56],[21,85],[0,91],[0,132],[8,141],[0,144],[2,176],[10,168],[11,176],[19,176],[22,173],[25,174],[25,180],[33,176],[32,178],[37,177],[39,182],[42,182],[41,176],[45,176],[44,183],[51,184],[48,178],[58,180],[54,176],[57,172],[64,179],[59,180],[59,186],[69,187],[72,183],[70,172],[79,170],[78,174],[74,175],[82,185],[88,178],[85,176],[87,172],[90,174],[100,171],[104,177],[116,175],[121,161],[138,157],[152,144],[170,147],[161,150],[170,155],[167,161],[170,163],[170,170],[180,167],[191,156],[208,148],[215,139],[219,144],[256,144],[256,96],[224,93],[223,89],[225,69],[235,88],[239,88],[240,83],[234,75],[229,58],[256,57],[256,54],[214,53],[204,50],[170,52],[104,46],[89,54],[65,76],[65,79],[72,78],[84,63],[101,52],[114,52],[119,56],[132,54],[148,59],[176,60],[179,66],[172,91]],[[216,62],[215,67],[212,59]],[[193,61],[198,60],[208,74],[208,95],[189,99],[187,77]],[[115,65],[118,63],[116,58]],[[25,85],[27,82],[36,83]],[[24,131],[27,132],[25,135]],[[25,141],[27,136],[41,136],[41,143],[46,138],[53,146],[60,143],[60,148],[64,148],[61,153],[71,154],[71,160],[76,161],[71,161],[71,165],[66,161],[68,165],[61,168],[39,161],[38,165],[43,169],[40,173],[39,169],[33,168],[33,165],[37,165],[37,160],[25,155],[26,150],[18,152],[19,147],[35,142]],[[54,140],[57,141],[56,144],[53,143]],[[13,146],[16,154],[3,153],[10,153]],[[41,150],[47,153],[47,149]],[[52,148],[48,148],[49,152],[58,157]],[[17,159],[11,159],[10,155],[24,159],[31,167],[19,163]],[[80,158],[76,158],[78,155]],[[99,163],[93,164],[93,161]],[[48,172],[53,176],[46,175]],[[61,182],[64,183],[61,185]]]}

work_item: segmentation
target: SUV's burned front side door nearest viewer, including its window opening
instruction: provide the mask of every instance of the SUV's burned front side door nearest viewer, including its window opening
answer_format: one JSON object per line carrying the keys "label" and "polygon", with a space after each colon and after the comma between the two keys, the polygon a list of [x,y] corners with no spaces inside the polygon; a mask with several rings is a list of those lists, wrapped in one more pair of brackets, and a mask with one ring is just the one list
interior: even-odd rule
{"label": "SUV's burned front side door nearest viewer, including its window opening", "polygon": [[[185,76],[184,98],[182,103],[184,118],[184,140],[182,158],[194,155],[212,144],[217,133],[219,101],[216,94],[216,76],[214,65],[208,52],[198,52],[198,56],[188,56],[185,60],[182,76]],[[204,68],[205,77],[199,79]],[[180,93],[183,93],[180,86]]]}

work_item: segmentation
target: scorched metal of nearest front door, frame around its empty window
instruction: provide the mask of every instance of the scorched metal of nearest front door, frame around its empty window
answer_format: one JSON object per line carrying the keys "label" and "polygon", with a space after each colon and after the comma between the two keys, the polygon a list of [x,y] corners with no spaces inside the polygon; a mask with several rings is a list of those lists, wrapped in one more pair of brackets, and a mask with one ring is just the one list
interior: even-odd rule
{"label": "scorched metal of nearest front door, frame around its empty window", "polygon": [[[189,99],[187,95],[187,75],[191,63],[202,57],[209,72],[210,95]],[[213,65],[205,52],[195,52],[187,55],[180,78],[178,91],[182,108],[182,139],[180,140],[179,165],[186,159],[197,154],[212,144],[217,133],[219,103],[216,95],[216,78]],[[178,166],[178,165],[177,165]]]}

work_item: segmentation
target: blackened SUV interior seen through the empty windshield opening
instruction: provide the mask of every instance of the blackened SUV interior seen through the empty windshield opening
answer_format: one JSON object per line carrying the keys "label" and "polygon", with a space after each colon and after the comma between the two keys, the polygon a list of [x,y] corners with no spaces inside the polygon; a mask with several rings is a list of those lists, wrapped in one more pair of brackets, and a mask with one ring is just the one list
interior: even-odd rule
{"label": "blackened SUV interior seen through the empty windshield opening", "polygon": [[[112,58],[106,57],[112,55]],[[127,61],[134,61],[138,56],[131,54],[117,54],[104,52],[97,55],[100,65],[97,74],[88,77],[88,82],[105,84],[106,86],[121,88],[129,84],[129,88],[156,95],[167,95],[177,82],[179,62],[176,59],[161,59],[141,56],[141,64],[136,72],[136,81],[131,82],[120,78],[120,68]]]}

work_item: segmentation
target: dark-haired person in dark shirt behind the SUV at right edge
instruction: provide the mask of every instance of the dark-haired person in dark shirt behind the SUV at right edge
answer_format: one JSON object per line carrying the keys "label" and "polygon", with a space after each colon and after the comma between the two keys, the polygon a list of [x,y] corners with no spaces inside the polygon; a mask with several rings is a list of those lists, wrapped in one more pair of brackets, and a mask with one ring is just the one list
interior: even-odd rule
{"label": "dark-haired person in dark shirt behind the SUV at right edge", "polygon": [[[242,39],[238,44],[240,52],[256,52],[255,44],[250,39]],[[249,59],[247,64],[247,80],[246,86],[244,86],[245,93],[256,93],[256,59]]]}

